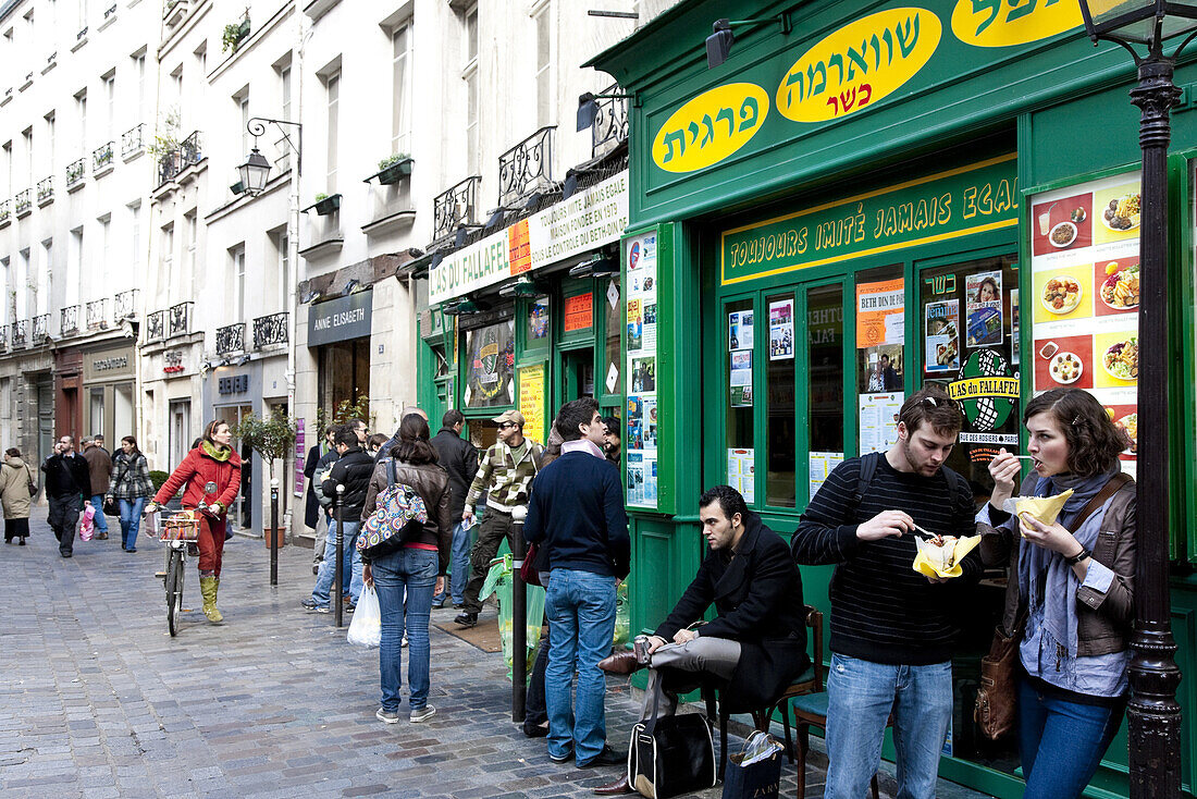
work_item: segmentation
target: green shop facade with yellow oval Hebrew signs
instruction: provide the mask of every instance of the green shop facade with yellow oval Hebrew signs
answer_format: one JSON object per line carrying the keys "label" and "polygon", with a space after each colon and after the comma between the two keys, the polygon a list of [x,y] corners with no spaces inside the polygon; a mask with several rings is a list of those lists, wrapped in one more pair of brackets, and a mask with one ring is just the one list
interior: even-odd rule
{"label": "green shop facade with yellow oval Hebrew signs", "polygon": [[[704,40],[736,25],[725,62]],[[949,465],[978,502],[1021,408],[1090,391],[1137,436],[1138,114],[1119,48],[1073,2],[681,2],[589,66],[631,96],[621,408],[633,630],[703,557],[697,497],[729,483],[785,535],[844,458],[885,449],[903,399],[940,381],[966,411]],[[1197,67],[1177,69],[1171,299],[1172,625],[1197,641]],[[1160,386],[1161,377],[1152,376]],[[1134,473],[1136,447],[1123,454]],[[803,567],[827,610],[831,568]],[[959,609],[941,775],[1019,797],[1013,742],[972,702],[1005,575]],[[825,653],[825,656],[830,656]],[[1178,700],[1197,707],[1197,683]],[[1197,736],[1181,727],[1192,795]],[[886,756],[893,756],[889,743]],[[1087,795],[1128,795],[1125,725]]]}

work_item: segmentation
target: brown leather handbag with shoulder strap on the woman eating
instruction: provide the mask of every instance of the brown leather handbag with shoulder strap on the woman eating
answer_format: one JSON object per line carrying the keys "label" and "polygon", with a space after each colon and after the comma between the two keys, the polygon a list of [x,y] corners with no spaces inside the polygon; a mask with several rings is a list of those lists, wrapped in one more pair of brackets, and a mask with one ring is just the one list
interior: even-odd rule
{"label": "brown leather handbag with shoulder strap on the woman eating", "polygon": [[[1110,478],[1073,520],[1069,532],[1075,533],[1080,529],[1081,525],[1128,482],[1130,477],[1123,473]],[[977,702],[973,706],[973,720],[982,734],[990,740],[997,740],[1014,730],[1017,716],[1017,689],[1014,676],[1017,671],[1019,643],[1022,641],[1026,623],[1027,611],[1023,609],[1013,630],[1003,630],[998,624],[994,630],[989,654],[980,659],[980,688],[977,690]]]}

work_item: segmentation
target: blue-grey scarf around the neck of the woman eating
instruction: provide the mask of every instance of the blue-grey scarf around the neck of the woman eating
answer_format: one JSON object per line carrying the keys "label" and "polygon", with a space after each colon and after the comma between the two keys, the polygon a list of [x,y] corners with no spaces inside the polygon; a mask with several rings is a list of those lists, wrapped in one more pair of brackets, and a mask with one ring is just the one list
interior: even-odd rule
{"label": "blue-grey scarf around the neck of the woman eating", "polygon": [[[1094,477],[1076,477],[1073,474],[1053,474],[1041,477],[1035,484],[1037,497],[1050,497],[1073,489],[1073,496],[1064,503],[1059,514],[1059,523],[1069,527],[1077,514],[1089,504],[1089,500],[1105,488],[1106,483],[1119,472],[1116,464],[1110,471]],[[1081,546],[1092,550],[1098,541],[1104,510],[1098,510],[1073,535]],[[1017,521],[1015,521],[1017,523]],[[1069,527],[1070,528],[1070,527]],[[1071,528],[1070,528],[1071,529]],[[1063,646],[1070,658],[1076,656],[1076,591],[1080,580],[1073,567],[1064,562],[1058,552],[1035,546],[1026,539],[1019,543],[1019,585],[1023,587],[1027,606],[1034,609],[1043,605],[1043,629],[1049,643]]]}

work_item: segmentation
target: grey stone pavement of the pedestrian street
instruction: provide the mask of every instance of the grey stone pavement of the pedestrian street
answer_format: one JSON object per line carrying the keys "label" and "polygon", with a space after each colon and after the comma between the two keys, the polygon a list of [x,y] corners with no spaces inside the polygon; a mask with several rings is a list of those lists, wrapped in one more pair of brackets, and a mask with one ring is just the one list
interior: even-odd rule
{"label": "grey stone pavement of the pedestrian street", "polygon": [[[0,544],[0,795],[588,797],[616,779],[613,768],[552,763],[543,739],[511,722],[502,655],[436,628],[437,715],[378,722],[377,650],[299,606],[314,580],[302,546],[280,551],[272,588],[261,539],[229,541],[220,627],[200,612],[189,559],[194,610],[171,638],[153,576],[162,546],[142,537],[135,553],[121,551],[114,521],[108,540],[77,541],[72,559],[59,557],[44,509],[34,510],[29,546]],[[433,611],[433,623],[452,615]],[[637,709],[626,679],[612,678],[608,738],[619,749]],[[825,759],[813,743],[807,795],[818,799]],[[794,795],[794,776],[786,764],[782,795]],[[941,787],[941,797],[980,795]]]}

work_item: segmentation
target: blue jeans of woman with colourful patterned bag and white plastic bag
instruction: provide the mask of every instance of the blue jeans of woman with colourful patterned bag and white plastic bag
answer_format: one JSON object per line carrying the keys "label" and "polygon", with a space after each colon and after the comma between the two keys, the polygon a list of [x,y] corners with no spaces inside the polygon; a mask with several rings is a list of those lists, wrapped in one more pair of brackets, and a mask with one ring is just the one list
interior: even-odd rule
{"label": "blue jeans of woman with colourful patterned bag and white plastic bag", "polygon": [[[370,564],[382,629],[378,643],[378,670],[382,676],[382,707],[399,710],[403,685],[402,638],[407,631],[408,704],[419,710],[429,703],[429,617],[432,615],[432,589],[437,582],[437,553],[431,550],[402,549]],[[403,592],[407,592],[405,603]]]}

